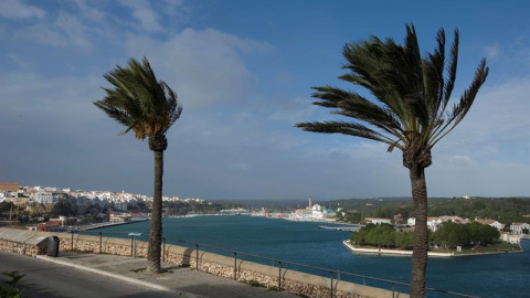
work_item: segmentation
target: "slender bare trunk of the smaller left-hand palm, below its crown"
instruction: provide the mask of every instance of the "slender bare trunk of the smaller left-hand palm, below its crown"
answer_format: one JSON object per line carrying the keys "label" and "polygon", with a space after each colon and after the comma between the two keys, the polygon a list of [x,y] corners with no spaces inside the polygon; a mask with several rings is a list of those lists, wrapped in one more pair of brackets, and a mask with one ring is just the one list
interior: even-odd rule
{"label": "slender bare trunk of the smaller left-hand palm, below its crown", "polygon": [[147,248],[147,272],[160,272],[160,249],[162,245],[162,175],[163,150],[155,152],[155,193],[152,195],[151,228]]}

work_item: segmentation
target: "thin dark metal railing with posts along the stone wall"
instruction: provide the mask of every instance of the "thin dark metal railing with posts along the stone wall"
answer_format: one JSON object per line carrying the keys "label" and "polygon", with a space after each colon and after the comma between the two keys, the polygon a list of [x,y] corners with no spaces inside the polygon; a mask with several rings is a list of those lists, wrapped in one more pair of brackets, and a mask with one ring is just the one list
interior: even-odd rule
{"label": "thin dark metal railing with posts along the stone wall", "polygon": [[[72,233],[72,244],[71,244],[72,251],[74,251],[74,234],[77,231],[71,231],[70,232],[70,233]],[[93,234],[93,233],[97,233],[99,235],[99,253],[102,253],[103,232],[83,231],[83,234]],[[142,236],[141,234],[138,235],[139,233],[127,233],[127,232],[105,232],[105,233],[106,234],[121,235],[121,236],[130,236],[131,237],[131,244],[130,244],[131,256],[132,257],[136,256],[136,252],[135,252],[136,251],[135,249],[136,248],[136,242],[135,242],[135,240]],[[147,235],[144,235],[144,236],[147,236]],[[210,248],[210,249],[213,249],[213,251],[219,251],[219,252],[224,253],[225,255],[233,256],[234,257],[233,278],[235,280],[237,280],[237,256],[240,256],[240,259],[242,259],[241,256],[243,256],[243,257],[250,257],[250,258],[255,258],[255,259],[261,259],[261,260],[267,260],[269,263],[272,262],[274,267],[276,267],[276,266],[278,267],[278,290],[283,289],[282,275],[285,274],[286,270],[288,270],[288,268],[286,266],[310,269],[312,272],[319,272],[320,273],[320,274],[318,274],[319,276],[329,277],[330,278],[329,287],[330,287],[330,297],[331,298],[335,297],[335,291],[336,291],[336,288],[337,288],[337,284],[339,281],[341,281],[341,276],[351,277],[351,278],[353,278],[353,280],[362,280],[362,285],[367,285],[367,280],[385,284],[392,290],[392,298],[398,297],[396,294],[399,294],[399,291],[396,289],[396,286],[401,287],[402,289],[410,289],[410,287],[411,287],[411,284],[407,284],[407,283],[390,280],[390,279],[384,279],[384,278],[378,278],[378,277],[371,277],[371,276],[365,276],[365,275],[361,275],[361,274],[352,274],[352,273],[341,272],[341,270],[338,270],[338,269],[336,270],[336,269],[322,268],[322,267],[300,264],[300,263],[296,263],[296,262],[271,258],[271,257],[265,257],[265,256],[237,252],[237,251],[233,251],[233,249],[229,249],[229,248],[224,248],[224,247],[218,247],[218,246],[213,246],[213,245],[199,244],[199,243],[194,243],[194,242],[188,242],[188,241],[184,241],[184,240],[168,238],[168,237],[162,237],[162,247],[161,247],[161,249],[162,249],[162,252],[161,252],[162,262],[166,262],[166,253],[167,253],[166,243],[167,243],[168,240],[171,241],[171,242],[174,242],[174,243],[182,243],[182,244],[186,244],[186,245],[189,245],[189,246],[192,246],[192,247],[195,248],[195,269],[197,270],[199,270],[199,260],[200,260],[199,254],[200,254],[200,248],[201,247],[202,248]],[[206,249],[203,249],[203,252],[211,253],[211,251],[206,251]],[[347,281],[347,280],[343,280],[343,281]],[[445,289],[437,289],[437,288],[432,288],[432,287],[425,287],[425,290],[427,292],[442,294],[442,295],[448,295],[448,296],[455,296],[455,297],[479,298],[478,296],[466,295],[466,294],[460,294],[460,292],[445,290]]]}

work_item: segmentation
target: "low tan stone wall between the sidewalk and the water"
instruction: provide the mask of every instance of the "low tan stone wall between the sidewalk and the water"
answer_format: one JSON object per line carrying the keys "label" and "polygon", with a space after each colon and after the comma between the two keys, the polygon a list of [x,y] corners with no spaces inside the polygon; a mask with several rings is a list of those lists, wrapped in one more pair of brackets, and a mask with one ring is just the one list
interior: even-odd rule
{"label": "low tan stone wall between the sidewalk and the water", "polygon": [[[2,230],[0,228],[0,249],[21,253],[21,249],[9,249],[12,245],[21,246],[23,243],[17,243],[13,240],[3,240]],[[17,231],[17,230],[11,230]],[[47,238],[49,236],[57,236],[60,238],[60,252],[81,252],[81,253],[104,253],[123,256],[131,256],[131,240],[99,237],[82,234],[70,233],[50,233],[36,231],[17,231],[31,233],[34,237]],[[132,252],[136,257],[147,257],[147,242],[135,241],[136,249]],[[31,246],[31,245],[30,245]],[[72,249],[73,248],[73,249]],[[32,248],[25,248],[32,249]],[[26,252],[24,251],[24,252]],[[45,249],[34,249],[35,254],[45,254]],[[183,247],[179,245],[167,244],[163,252],[166,263],[197,268],[202,272],[234,278],[253,285],[259,285],[269,289],[286,290],[294,295],[303,297],[320,298],[406,298],[409,295],[401,292],[392,292],[375,287],[326,278],[317,275],[306,274],[292,269],[280,269],[274,266],[267,266],[254,262],[243,260],[240,258],[218,255],[194,248]]]}

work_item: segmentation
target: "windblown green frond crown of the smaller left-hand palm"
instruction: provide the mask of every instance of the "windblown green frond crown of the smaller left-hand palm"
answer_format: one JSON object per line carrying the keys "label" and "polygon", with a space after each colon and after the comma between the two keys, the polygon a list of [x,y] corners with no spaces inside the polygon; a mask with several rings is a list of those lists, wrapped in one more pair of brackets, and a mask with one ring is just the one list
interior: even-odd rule
{"label": "windblown green frond crown of the smaller left-hand palm", "polygon": [[144,57],[141,64],[130,58],[127,67],[117,65],[104,77],[115,88],[103,87],[106,96],[94,104],[127,127],[121,134],[134,130],[137,139],[165,140],[166,132],[180,117],[182,106],[168,84],[157,81],[147,58]]}

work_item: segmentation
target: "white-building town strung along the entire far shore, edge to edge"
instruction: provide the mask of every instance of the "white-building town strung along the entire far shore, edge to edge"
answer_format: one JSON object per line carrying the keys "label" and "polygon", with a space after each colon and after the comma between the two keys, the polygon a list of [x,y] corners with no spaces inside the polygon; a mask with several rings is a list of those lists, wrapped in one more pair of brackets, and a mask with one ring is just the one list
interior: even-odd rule
{"label": "white-building town strung along the entire far shore, edge to edge", "polygon": [[[464,198],[469,200],[469,198]],[[52,187],[21,187],[17,182],[0,182],[0,224],[22,225],[39,231],[66,231],[72,226],[99,224],[120,224],[130,221],[148,220],[149,206],[152,198],[142,194],[132,194],[125,191],[84,191],[57,189]],[[307,206],[272,211],[267,207],[247,209],[241,204],[215,204],[202,199],[181,199],[163,196],[166,216],[197,216],[197,215],[253,215],[289,221],[317,221],[327,223],[343,222],[348,211],[344,207],[326,207],[308,199]],[[9,207],[7,207],[9,204]],[[190,207],[194,205],[195,207]],[[371,205],[371,203],[367,203]],[[177,206],[176,212],[171,206]],[[197,206],[203,206],[202,209]],[[208,206],[208,207],[205,207]],[[224,207],[224,209],[223,209]],[[172,215],[171,215],[172,214]],[[530,219],[530,215],[522,215]],[[491,219],[464,219],[456,215],[431,216],[427,226],[436,232],[445,223],[467,224],[480,223],[499,231],[500,240],[518,244],[524,236],[528,237],[530,224],[528,222],[512,222],[502,224]],[[404,217],[395,214],[392,217],[364,217],[359,224],[390,224],[396,230],[411,232],[415,226],[415,217]]]}

